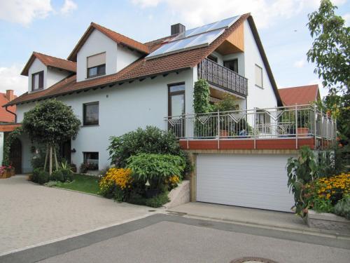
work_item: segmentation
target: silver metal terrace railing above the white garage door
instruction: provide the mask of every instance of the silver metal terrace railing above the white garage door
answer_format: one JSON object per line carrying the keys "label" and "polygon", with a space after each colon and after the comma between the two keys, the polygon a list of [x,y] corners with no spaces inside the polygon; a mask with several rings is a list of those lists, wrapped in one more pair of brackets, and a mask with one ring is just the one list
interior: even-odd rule
{"label": "silver metal terrace railing above the white garage door", "polygon": [[336,138],[335,121],[311,105],[168,116],[165,122],[179,139]]}

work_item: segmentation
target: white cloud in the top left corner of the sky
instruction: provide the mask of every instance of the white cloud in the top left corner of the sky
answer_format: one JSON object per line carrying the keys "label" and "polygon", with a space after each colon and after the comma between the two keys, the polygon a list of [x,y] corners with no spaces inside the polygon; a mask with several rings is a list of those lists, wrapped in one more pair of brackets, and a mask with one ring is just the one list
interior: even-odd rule
{"label": "white cloud in the top left corner of the sky", "polygon": [[46,18],[52,11],[50,0],[1,1],[0,20],[27,26],[35,19]]}

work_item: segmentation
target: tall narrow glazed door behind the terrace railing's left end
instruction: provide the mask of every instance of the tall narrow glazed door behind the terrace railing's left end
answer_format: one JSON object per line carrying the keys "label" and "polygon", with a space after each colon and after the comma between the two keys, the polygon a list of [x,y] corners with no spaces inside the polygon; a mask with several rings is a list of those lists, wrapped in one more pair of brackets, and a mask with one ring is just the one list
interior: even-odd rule
{"label": "tall narrow glazed door behind the terrace railing's left end", "polygon": [[185,83],[169,85],[168,93],[168,130],[172,130],[176,137],[185,136]]}

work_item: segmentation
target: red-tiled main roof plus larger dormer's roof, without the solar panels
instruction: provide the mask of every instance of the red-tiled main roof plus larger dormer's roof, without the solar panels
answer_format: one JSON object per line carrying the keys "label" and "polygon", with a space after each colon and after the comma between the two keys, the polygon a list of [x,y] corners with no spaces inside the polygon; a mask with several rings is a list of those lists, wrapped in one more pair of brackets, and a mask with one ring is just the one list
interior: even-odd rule
{"label": "red-tiled main roof plus larger dormer's roof, without the solar panels", "polygon": [[[241,25],[245,20],[248,20],[249,25],[251,26],[251,29],[253,31],[253,35],[255,37],[255,41],[258,43],[258,48],[260,51],[260,54],[262,55],[262,60],[264,61],[265,68],[267,69],[267,74],[269,75],[269,80],[272,83],[272,87],[274,88],[274,93],[276,95],[276,98],[281,104],[281,100],[279,97],[278,90],[276,88],[276,83],[274,81],[271,68],[269,67],[269,63],[267,61],[265,51],[262,48],[262,44],[260,41],[260,38],[258,36],[257,29],[255,27],[255,23],[253,22],[253,18],[249,13],[246,13],[244,15],[241,15],[241,17],[228,29],[225,29],[225,32],[221,34],[221,36],[218,36],[217,39],[215,39],[209,46],[201,47],[201,48],[195,48],[192,50],[185,50],[181,53],[174,53],[170,55],[166,55],[160,58],[154,58],[146,60],[144,57],[140,58],[139,60],[132,62],[132,64],[128,65],[124,69],[120,70],[120,72],[117,72],[115,74],[110,74],[106,76],[101,76],[94,79],[87,79],[85,81],[76,81],[76,76],[69,76],[66,79],[63,79],[62,81],[59,81],[55,85],[51,86],[50,88],[46,88],[45,90],[40,90],[35,93],[25,93],[18,97],[17,99],[13,100],[12,102],[8,103],[8,105],[11,104],[20,104],[23,102],[29,102],[34,100],[42,100],[49,97],[56,97],[58,95],[66,95],[71,94],[75,92],[80,92],[82,90],[87,90],[90,88],[102,88],[104,86],[113,86],[116,83],[125,83],[127,81],[134,81],[135,79],[146,79],[146,77],[153,77],[157,76],[159,74],[167,74],[170,72],[180,72],[184,69],[190,69],[191,67],[197,66],[204,58],[207,58],[208,55],[210,55],[218,46],[225,41],[225,39],[232,34],[232,32]],[[87,37],[91,34],[93,29],[99,29],[104,30],[104,34],[110,34],[111,30],[106,29],[104,27],[101,27],[97,24],[92,23],[90,27],[87,29],[87,32],[83,35],[83,37],[80,39],[78,44],[76,45],[76,48],[74,48],[71,55],[69,55],[69,59],[74,60],[76,59],[76,53],[78,52],[78,49],[83,45],[83,43],[86,41]],[[112,33],[111,33],[112,34]],[[121,40],[122,37],[127,38],[126,36],[120,35],[116,32],[113,32],[113,36],[119,37],[119,41],[123,44],[126,44],[126,40]],[[111,37],[111,36],[109,36]],[[162,46],[164,41],[166,39],[169,39],[170,36],[167,36],[163,39],[158,39],[155,41],[150,41],[144,44],[141,44],[141,47],[144,48],[144,53],[148,54],[151,53],[153,50],[159,48]],[[132,40],[132,39],[131,39]],[[117,41],[117,40],[116,40]],[[139,42],[137,41],[130,41],[130,45],[133,45],[133,48],[140,50],[139,48],[136,48],[136,46],[139,45]],[[129,46],[129,45],[127,45]],[[146,48],[145,48],[146,47]],[[146,52],[147,50],[147,52]]]}

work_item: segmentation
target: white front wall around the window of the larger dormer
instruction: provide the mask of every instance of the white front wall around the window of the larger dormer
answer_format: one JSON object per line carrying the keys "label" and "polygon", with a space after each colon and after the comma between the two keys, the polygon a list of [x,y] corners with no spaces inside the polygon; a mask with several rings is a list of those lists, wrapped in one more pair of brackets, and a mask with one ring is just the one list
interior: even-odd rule
{"label": "white front wall around the window of the larger dormer", "polygon": [[94,29],[77,55],[76,80],[87,78],[87,57],[106,52],[106,75],[117,72],[117,43]]}

